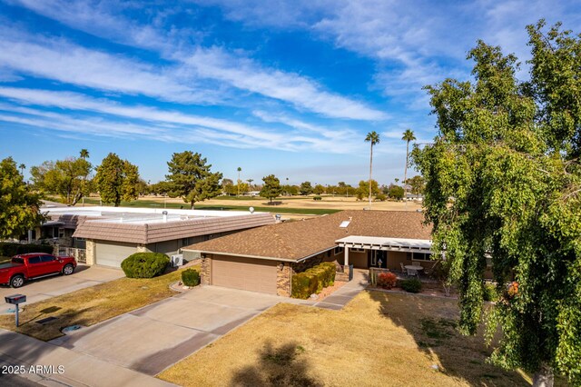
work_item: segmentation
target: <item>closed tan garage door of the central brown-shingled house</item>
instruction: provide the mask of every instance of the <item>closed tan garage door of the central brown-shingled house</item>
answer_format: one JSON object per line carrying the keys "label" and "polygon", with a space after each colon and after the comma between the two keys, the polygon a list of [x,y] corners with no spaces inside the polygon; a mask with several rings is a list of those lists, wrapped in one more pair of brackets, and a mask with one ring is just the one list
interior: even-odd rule
{"label": "closed tan garage door of the central brown-shingled house", "polygon": [[240,257],[212,259],[212,284],[276,294],[276,262]]}

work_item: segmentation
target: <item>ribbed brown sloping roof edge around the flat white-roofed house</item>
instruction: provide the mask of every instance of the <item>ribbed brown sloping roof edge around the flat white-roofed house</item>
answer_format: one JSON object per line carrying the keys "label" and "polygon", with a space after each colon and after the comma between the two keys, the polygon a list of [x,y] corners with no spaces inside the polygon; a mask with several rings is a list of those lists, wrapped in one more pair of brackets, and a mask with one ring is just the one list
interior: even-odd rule
{"label": "ribbed brown sloping roof edge around the flat white-roofed house", "polygon": [[197,218],[164,223],[86,221],[78,226],[73,236],[102,241],[147,244],[244,230],[272,223],[274,223],[274,218],[270,213]]}

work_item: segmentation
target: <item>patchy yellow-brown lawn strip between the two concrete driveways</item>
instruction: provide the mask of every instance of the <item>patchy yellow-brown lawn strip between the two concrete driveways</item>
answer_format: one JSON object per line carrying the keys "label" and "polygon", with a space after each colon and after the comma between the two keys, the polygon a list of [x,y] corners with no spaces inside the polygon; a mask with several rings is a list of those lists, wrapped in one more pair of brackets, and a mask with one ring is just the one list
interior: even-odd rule
{"label": "patchy yellow-brown lawn strip between the two concrete driveways", "polygon": [[[199,270],[199,267],[193,266]],[[13,315],[0,316],[0,327],[49,341],[62,336],[61,329],[70,325],[89,326],[150,303],[171,297],[170,283],[181,278],[181,271],[151,279],[120,278],[73,293],[66,293],[38,303],[25,304],[20,313],[20,326],[15,328]],[[46,317],[57,319],[36,323]]]}

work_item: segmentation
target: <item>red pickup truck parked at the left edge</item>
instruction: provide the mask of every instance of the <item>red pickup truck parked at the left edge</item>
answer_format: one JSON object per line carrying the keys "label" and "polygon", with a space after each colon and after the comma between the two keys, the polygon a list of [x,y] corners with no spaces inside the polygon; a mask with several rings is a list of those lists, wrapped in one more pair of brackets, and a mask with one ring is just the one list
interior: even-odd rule
{"label": "red pickup truck parked at the left edge", "polygon": [[25,280],[32,278],[57,273],[70,275],[74,272],[75,267],[74,257],[56,257],[47,253],[15,255],[10,263],[0,264],[0,283],[19,288],[25,284]]}

